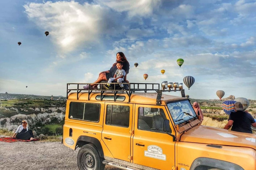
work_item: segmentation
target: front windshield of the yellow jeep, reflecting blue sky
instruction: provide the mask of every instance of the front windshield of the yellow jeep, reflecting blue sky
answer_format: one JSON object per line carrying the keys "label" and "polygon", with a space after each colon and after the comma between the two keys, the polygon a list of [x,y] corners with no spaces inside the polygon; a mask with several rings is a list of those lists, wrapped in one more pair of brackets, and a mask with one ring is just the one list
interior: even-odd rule
{"label": "front windshield of the yellow jeep, reflecting blue sky", "polygon": [[182,124],[191,119],[197,119],[196,113],[189,100],[167,103],[167,107],[175,124]]}

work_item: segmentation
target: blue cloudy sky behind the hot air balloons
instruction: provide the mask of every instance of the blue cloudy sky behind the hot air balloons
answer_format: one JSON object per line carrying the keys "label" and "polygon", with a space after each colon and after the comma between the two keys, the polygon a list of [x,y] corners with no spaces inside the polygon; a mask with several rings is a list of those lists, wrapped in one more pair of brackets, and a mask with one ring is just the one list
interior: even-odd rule
{"label": "blue cloudy sky behind the hot air balloons", "polygon": [[0,1],[0,93],[66,97],[67,83],[94,82],[121,51],[131,83],[256,100],[255,9],[255,0]]}

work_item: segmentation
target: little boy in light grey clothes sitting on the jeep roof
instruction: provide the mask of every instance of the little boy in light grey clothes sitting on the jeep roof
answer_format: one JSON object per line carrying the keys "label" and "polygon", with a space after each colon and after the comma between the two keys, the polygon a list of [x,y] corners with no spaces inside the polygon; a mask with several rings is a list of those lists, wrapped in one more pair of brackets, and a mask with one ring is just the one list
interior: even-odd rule
{"label": "little boy in light grey clothes sitting on the jeep roof", "polygon": [[107,86],[109,87],[109,89],[113,89],[113,87],[110,87],[109,83],[112,83],[113,81],[117,81],[120,85],[120,87],[122,88],[122,90],[125,90],[124,85],[122,84],[122,82],[124,81],[124,77],[126,75],[125,70],[123,69],[123,62],[122,61],[118,61],[116,64],[117,70],[115,72],[114,77],[110,77],[109,81],[107,83]]}

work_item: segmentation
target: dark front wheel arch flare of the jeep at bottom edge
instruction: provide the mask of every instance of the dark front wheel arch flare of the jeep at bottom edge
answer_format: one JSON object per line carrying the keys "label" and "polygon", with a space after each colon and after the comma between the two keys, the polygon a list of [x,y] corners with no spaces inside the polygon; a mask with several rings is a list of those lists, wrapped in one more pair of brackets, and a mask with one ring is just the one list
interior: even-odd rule
{"label": "dark front wheel arch flare of the jeep at bottom edge", "polygon": [[[227,161],[222,161],[219,159],[213,159],[213,158],[205,158],[205,157],[199,157],[196,158],[191,167],[190,170],[195,170],[199,166],[208,166],[208,167],[213,167],[213,168],[220,168],[224,170],[244,170],[241,166],[227,162]],[[200,168],[199,168],[200,169]]]}

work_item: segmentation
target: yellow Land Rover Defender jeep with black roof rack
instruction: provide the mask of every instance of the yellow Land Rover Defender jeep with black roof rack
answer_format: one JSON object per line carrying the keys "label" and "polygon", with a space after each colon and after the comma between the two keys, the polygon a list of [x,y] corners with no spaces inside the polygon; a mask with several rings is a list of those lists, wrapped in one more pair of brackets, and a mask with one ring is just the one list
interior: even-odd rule
{"label": "yellow Land Rover Defender jeep with black roof rack", "polygon": [[[67,84],[63,144],[80,148],[80,170],[256,170],[255,134],[200,125],[182,88],[127,84],[111,91]],[[174,91],[182,97],[163,94]]]}

